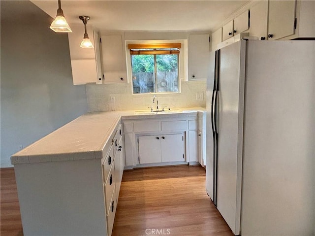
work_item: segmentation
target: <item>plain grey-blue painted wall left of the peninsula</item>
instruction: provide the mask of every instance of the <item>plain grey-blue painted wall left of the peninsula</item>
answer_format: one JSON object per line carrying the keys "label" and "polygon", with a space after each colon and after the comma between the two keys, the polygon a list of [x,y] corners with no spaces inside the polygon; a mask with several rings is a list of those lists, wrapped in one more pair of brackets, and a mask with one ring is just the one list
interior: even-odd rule
{"label": "plain grey-blue painted wall left of the peninsula", "polygon": [[0,3],[2,168],[19,145],[82,115],[87,102],[85,86],[72,84],[67,34],[50,30],[52,18],[30,1]]}

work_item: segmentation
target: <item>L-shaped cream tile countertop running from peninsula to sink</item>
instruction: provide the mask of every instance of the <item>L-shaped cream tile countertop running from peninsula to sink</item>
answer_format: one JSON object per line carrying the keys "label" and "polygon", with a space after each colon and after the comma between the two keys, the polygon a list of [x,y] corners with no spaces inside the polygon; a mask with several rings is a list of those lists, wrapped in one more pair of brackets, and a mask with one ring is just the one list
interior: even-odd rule
{"label": "L-shaped cream tile countertop running from peninsula to sink", "polygon": [[162,114],[136,114],[135,111],[86,113],[11,156],[11,164],[101,159],[102,150],[121,119],[184,116],[205,111],[202,107],[180,108]]}

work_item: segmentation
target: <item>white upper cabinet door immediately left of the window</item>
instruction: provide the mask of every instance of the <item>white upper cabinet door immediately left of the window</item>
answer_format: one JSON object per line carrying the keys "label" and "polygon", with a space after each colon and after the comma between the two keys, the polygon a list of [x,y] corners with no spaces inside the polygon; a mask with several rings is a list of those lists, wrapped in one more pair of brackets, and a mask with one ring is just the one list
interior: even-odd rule
{"label": "white upper cabinet door immediately left of the window", "polygon": [[104,82],[127,82],[123,36],[101,35],[101,47]]}

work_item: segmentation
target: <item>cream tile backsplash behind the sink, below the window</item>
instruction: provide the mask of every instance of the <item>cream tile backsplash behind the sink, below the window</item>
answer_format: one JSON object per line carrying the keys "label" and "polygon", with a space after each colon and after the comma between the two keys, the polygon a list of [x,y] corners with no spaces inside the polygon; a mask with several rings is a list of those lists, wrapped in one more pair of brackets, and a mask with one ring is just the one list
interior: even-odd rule
{"label": "cream tile backsplash behind the sink, below the window", "polygon": [[[87,84],[88,111],[145,110],[154,106],[153,94],[133,95],[131,86],[131,83]],[[206,81],[181,81],[181,93],[157,96],[160,108],[206,107]]]}

